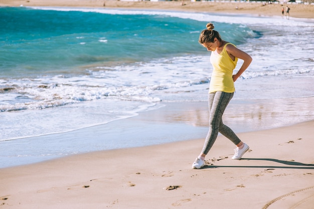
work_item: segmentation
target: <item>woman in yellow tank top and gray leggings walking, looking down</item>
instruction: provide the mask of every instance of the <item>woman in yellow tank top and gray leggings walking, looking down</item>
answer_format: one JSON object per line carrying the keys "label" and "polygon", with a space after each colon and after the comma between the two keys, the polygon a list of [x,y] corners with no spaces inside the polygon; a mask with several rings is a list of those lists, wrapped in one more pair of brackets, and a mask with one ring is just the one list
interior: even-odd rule
{"label": "woman in yellow tank top and gray leggings walking, looking down", "polygon": [[[218,132],[236,145],[233,160],[241,159],[242,155],[249,149],[248,145],[243,143],[229,127],[223,124],[222,115],[234,94],[234,82],[247,69],[252,62],[252,58],[232,43],[222,40],[219,33],[213,30],[214,25],[212,23],[208,23],[206,28],[201,32],[199,43],[208,51],[211,51],[210,62],[213,65],[208,94],[209,131],[202,152],[192,165],[192,168],[196,169],[204,167],[205,156],[212,148]],[[244,62],[239,71],[233,75],[238,58]]]}

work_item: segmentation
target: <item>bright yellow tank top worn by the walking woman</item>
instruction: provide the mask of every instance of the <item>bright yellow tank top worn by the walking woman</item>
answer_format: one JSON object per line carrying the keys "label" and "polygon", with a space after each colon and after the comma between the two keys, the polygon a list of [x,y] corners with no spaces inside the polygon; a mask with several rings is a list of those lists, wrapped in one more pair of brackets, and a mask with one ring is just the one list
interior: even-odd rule
{"label": "bright yellow tank top worn by the walking woman", "polygon": [[[213,65],[213,73],[210,80],[209,92],[223,91],[232,93],[235,91],[232,73],[237,65],[238,58],[233,61],[226,50],[227,43],[220,54],[217,51],[211,53],[210,62]],[[232,44],[235,46],[234,44]]]}

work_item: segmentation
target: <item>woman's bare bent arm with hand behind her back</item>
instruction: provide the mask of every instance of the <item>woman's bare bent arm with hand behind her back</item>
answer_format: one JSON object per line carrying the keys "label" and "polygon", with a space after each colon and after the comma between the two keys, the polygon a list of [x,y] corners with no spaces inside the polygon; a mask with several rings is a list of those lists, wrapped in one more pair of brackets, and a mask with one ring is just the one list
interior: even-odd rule
{"label": "woman's bare bent arm with hand behind her back", "polygon": [[239,71],[232,75],[233,78],[233,82],[236,81],[238,79],[238,77],[240,77],[240,75],[246,70],[246,68],[248,68],[248,66],[251,64],[252,62],[252,57],[250,55],[248,55],[247,53],[245,53],[244,51],[236,48],[235,46],[228,44],[226,46],[226,50],[229,54],[229,56],[232,57],[237,57],[239,59],[242,59],[244,62],[242,64],[242,66],[240,67]]}

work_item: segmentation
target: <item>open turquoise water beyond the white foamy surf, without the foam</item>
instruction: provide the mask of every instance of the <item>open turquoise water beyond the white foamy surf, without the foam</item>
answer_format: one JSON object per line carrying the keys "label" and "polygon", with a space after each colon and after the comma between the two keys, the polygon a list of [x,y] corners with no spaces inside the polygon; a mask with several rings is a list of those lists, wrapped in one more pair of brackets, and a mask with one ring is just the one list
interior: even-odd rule
{"label": "open turquoise water beyond the white foamy surf, without the foam", "polygon": [[[100,12],[106,11],[1,8],[1,77],[71,76],[92,67],[204,54],[197,38],[206,22]],[[219,29],[235,44],[259,36],[240,24]]]}

